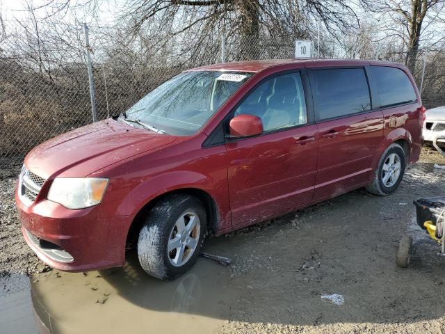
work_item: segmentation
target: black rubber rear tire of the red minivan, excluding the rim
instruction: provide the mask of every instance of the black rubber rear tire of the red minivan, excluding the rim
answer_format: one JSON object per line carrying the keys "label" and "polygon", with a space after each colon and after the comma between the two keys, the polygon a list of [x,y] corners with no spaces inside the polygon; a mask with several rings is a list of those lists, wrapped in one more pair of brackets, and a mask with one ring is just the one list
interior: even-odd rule
{"label": "black rubber rear tire of the red minivan, excluding the rim", "polygon": [[[385,186],[382,180],[382,168],[385,164],[386,159],[390,154],[397,154],[401,161],[401,172],[398,176],[397,182],[393,186]],[[380,157],[380,161],[378,161],[377,168],[374,170],[373,180],[370,184],[366,186],[366,190],[370,193],[373,193],[378,196],[387,196],[390,193],[393,193],[398,188],[398,185],[401,183],[403,179],[403,174],[405,173],[406,168],[406,157],[405,151],[396,143],[392,143],[389,147],[383,152],[382,157]]]}

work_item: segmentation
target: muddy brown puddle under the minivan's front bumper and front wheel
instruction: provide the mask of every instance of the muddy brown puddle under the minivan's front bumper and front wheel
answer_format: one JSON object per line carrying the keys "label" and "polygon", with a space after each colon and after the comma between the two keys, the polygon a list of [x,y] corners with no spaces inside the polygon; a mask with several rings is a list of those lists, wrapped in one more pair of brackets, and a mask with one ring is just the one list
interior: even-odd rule
{"label": "muddy brown puddle under the minivan's front bumper and front wheel", "polygon": [[0,304],[0,328],[7,328],[0,333],[212,333],[241,293],[230,287],[230,269],[209,260],[200,258],[166,283],[148,276],[129,255],[122,268],[86,275],[52,271],[33,276],[31,284],[25,278],[22,294]]}

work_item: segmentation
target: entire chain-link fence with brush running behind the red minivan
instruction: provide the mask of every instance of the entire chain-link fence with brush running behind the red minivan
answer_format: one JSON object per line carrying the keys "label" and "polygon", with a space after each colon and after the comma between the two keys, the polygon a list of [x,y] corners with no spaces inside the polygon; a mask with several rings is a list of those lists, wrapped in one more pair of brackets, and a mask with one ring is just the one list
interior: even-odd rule
{"label": "entire chain-link fence with brush running behind the red minivan", "polygon": [[[364,58],[360,54],[341,53],[338,45],[323,34],[322,31],[321,58]],[[38,49],[27,53],[19,49],[10,54],[0,53],[0,167],[17,164],[35,145],[92,122],[83,26],[76,27],[72,36],[76,43],[65,47],[62,43],[54,52]],[[90,29],[90,43],[97,120],[122,113],[150,90],[187,68],[221,61],[293,58],[295,50],[292,38],[238,38],[223,34],[214,36],[193,53],[181,53],[180,48],[172,45],[149,54],[138,52],[137,47],[118,45],[101,27]],[[318,54],[317,45],[317,42],[313,45],[313,56]],[[363,52],[364,46],[356,47],[354,52]],[[35,47],[30,45],[29,49]],[[389,61],[403,58],[400,53],[378,54],[369,48],[366,52],[367,58]],[[426,59],[423,98],[427,106],[445,104],[442,94],[445,53],[436,51]],[[421,69],[419,58],[416,71]],[[419,73],[416,77],[420,78]]]}

